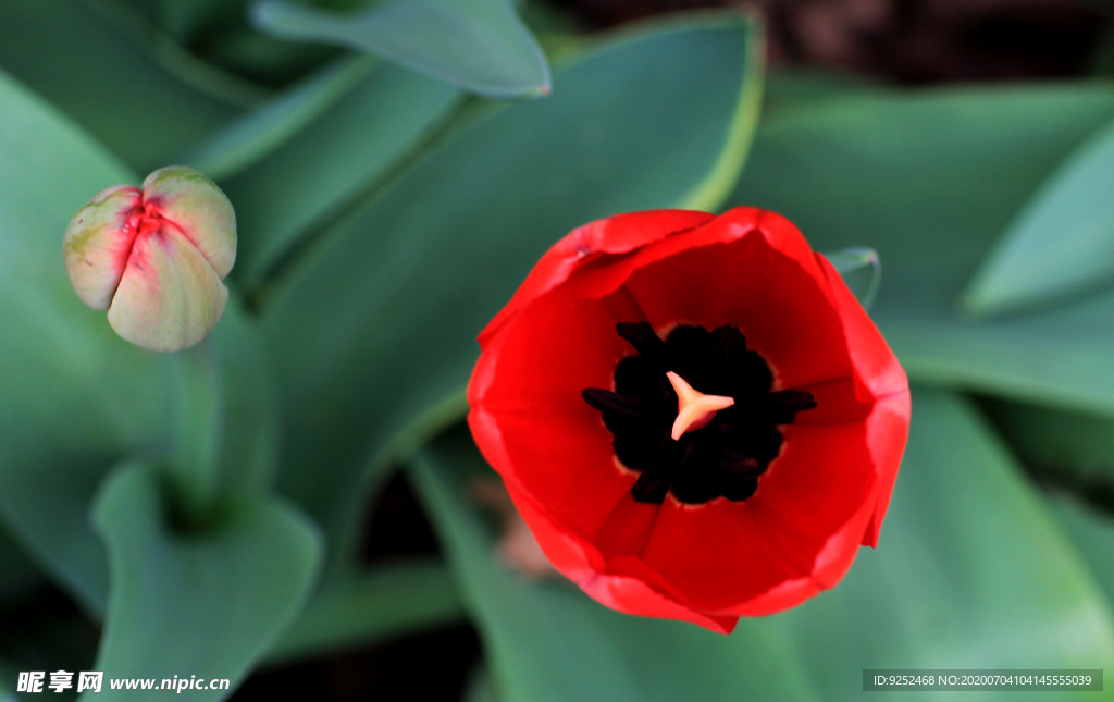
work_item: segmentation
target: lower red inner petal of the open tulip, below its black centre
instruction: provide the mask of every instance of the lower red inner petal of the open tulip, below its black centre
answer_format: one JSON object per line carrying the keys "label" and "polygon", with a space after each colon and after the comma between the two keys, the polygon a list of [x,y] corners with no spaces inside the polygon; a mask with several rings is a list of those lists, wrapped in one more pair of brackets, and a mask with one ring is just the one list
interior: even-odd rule
{"label": "lower red inner petal of the open tulip, below its black centre", "polygon": [[[783,452],[750,499],[663,504],[642,559],[697,610],[739,613],[732,608],[786,581],[813,581],[804,591],[813,594],[830,587],[819,572],[822,554],[833,534],[873,504],[863,422],[783,431]],[[825,558],[853,557],[862,528]]]}

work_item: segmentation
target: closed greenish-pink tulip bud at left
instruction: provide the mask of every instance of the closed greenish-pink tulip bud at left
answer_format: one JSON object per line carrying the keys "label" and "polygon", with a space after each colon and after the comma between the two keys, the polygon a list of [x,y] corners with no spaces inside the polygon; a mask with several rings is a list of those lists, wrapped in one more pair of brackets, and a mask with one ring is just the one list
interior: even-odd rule
{"label": "closed greenish-pink tulip bud at left", "polygon": [[204,339],[224,312],[236,262],[236,213],[188,166],[147,176],[143,189],[97,193],[66,227],[66,272],[78,296],[108,310],[116,333],[153,351]]}

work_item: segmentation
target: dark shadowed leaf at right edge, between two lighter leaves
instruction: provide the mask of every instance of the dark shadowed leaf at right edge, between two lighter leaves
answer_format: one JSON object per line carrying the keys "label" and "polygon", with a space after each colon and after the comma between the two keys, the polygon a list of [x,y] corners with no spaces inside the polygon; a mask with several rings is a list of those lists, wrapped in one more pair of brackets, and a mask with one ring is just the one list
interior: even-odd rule
{"label": "dark shadowed leaf at right edge, between two lighter leaves", "polygon": [[1079,486],[1114,487],[1114,420],[1007,400],[987,400],[996,428],[1026,464]]}

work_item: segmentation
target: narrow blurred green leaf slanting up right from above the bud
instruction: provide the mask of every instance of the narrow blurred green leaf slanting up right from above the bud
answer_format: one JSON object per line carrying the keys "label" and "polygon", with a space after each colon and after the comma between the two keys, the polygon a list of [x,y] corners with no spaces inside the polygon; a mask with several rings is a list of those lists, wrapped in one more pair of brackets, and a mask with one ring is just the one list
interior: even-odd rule
{"label": "narrow blurred green leaf slanting up right from above the bud", "polygon": [[375,60],[365,57],[340,59],[174,160],[214,181],[234,176],[287,143],[352,90],[374,66]]}

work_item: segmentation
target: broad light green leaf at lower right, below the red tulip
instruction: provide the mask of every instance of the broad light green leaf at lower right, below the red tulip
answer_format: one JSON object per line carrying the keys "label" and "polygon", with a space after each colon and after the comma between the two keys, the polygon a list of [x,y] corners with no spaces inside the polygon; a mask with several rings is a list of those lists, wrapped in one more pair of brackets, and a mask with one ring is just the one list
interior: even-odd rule
{"label": "broad light green leaf at lower right, below the red tulip", "polygon": [[915,388],[912,407],[877,550],[770,620],[824,699],[861,699],[869,667],[1110,670],[1111,608],[1016,461],[960,397]]}

